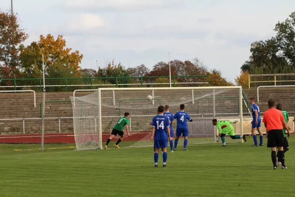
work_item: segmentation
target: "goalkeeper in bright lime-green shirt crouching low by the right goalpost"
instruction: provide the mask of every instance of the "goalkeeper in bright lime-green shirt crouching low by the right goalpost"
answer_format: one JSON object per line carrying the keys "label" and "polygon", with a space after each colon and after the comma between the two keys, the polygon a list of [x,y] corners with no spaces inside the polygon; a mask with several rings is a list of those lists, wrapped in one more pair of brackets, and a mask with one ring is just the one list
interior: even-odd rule
{"label": "goalkeeper in bright lime-green shirt crouching low by the right goalpost", "polygon": [[217,127],[219,132],[218,137],[216,137],[216,142],[218,142],[219,137],[221,137],[222,146],[226,146],[226,134],[228,134],[232,139],[243,139],[246,142],[246,136],[235,135],[234,127],[231,124],[235,124],[236,122],[237,121],[217,121],[216,119],[213,119],[212,124]]}

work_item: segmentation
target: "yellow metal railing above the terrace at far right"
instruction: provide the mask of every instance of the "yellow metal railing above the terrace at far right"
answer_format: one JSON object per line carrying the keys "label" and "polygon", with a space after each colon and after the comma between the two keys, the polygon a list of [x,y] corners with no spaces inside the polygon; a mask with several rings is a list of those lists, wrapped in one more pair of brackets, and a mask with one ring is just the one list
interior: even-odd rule
{"label": "yellow metal railing above the terrace at far right", "polygon": [[[277,83],[281,82],[295,82],[295,80],[282,80],[282,76],[294,76],[295,78],[295,73],[290,73],[290,74],[249,74],[248,75],[248,87],[250,89],[251,83],[266,83],[266,82],[273,82],[274,86],[277,85]],[[251,77],[254,77],[254,81],[251,81]],[[256,77],[273,77],[273,80],[264,80],[264,81],[256,81]]]}

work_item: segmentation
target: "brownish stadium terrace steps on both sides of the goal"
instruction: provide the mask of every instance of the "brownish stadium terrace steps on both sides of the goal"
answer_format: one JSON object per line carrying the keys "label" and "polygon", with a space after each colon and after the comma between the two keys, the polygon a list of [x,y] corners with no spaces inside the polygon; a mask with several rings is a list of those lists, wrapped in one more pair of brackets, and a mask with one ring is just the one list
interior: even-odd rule
{"label": "brownish stadium terrace steps on both sides of the goal", "polygon": [[[245,89],[247,98],[257,99],[257,89]],[[292,88],[261,88],[259,93],[259,107],[262,112],[267,110],[267,100],[272,98],[284,105],[287,111],[295,111],[295,89]],[[93,92],[77,92],[76,96],[89,95]],[[46,93],[46,101],[49,100],[70,100],[69,96],[73,93]],[[36,93],[36,107],[33,103],[32,93],[1,93],[0,94],[0,119],[11,118],[40,118],[40,103],[42,93]],[[246,107],[243,112],[247,112]],[[62,117],[72,117],[71,102],[46,103],[46,118],[60,117],[60,131],[63,133],[73,132],[72,118],[63,119]],[[290,113],[294,116],[295,113]],[[25,133],[40,133],[41,119],[25,120]],[[59,119],[46,119],[46,133],[59,132]],[[20,134],[23,133],[23,120],[0,120],[0,134]]]}

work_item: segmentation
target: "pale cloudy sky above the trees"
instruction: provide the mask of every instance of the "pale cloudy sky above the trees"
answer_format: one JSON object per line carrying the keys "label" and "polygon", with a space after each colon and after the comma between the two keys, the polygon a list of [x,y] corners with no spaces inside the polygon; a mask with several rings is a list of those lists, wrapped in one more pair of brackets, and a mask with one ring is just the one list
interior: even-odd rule
{"label": "pale cloudy sky above the trees", "polygon": [[[0,0],[0,10],[11,0]],[[283,3],[284,2],[284,3]],[[250,45],[275,33],[295,11],[295,0],[13,0],[25,45],[41,34],[62,34],[84,55],[82,68],[113,59],[125,67],[197,57],[233,81]]]}

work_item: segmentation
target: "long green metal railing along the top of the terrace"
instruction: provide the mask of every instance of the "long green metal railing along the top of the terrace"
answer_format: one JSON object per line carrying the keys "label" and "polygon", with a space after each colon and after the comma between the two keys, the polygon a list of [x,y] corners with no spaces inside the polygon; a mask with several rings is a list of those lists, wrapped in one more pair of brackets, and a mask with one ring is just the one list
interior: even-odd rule
{"label": "long green metal railing along the top of the terrace", "polygon": [[[177,79],[179,78],[204,78],[204,80],[200,80],[200,82],[177,82]],[[46,85],[46,87],[65,87],[65,92],[67,92],[68,87],[90,87],[97,88],[97,87],[105,87],[105,86],[140,86],[144,87],[145,85],[168,85],[170,83],[151,83],[147,82],[148,79],[154,79],[154,78],[169,78],[169,76],[142,76],[142,77],[93,77],[93,78],[47,78],[45,81],[56,81],[60,82],[62,81],[63,85]],[[129,79],[137,79],[139,83],[129,83]],[[187,75],[187,76],[171,76],[173,87],[176,87],[177,84],[207,84],[207,86],[210,86],[209,83],[209,76],[208,75]],[[84,84],[73,84],[73,81],[81,81]],[[98,82],[96,83],[102,83],[102,84],[95,84],[95,80]],[[124,80],[127,83],[119,83],[120,80]],[[0,79],[1,82],[3,81],[10,81],[13,85],[11,86],[0,86],[0,88],[14,88],[16,90],[17,88],[39,88],[39,91],[42,92],[42,81],[43,79],[36,78],[36,79]],[[17,85],[17,83],[20,83],[20,81],[24,81],[25,83],[29,83],[27,81],[30,81],[30,83],[34,83],[37,81],[38,85]],[[110,83],[109,81],[113,81],[114,83]],[[108,84],[105,84],[104,82],[107,82]],[[86,84],[89,83],[89,84]],[[36,84],[36,83],[35,83]],[[45,84],[48,84],[45,83]],[[49,83],[50,84],[50,83]]]}

